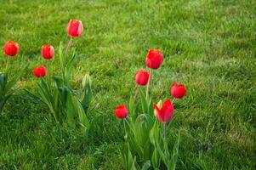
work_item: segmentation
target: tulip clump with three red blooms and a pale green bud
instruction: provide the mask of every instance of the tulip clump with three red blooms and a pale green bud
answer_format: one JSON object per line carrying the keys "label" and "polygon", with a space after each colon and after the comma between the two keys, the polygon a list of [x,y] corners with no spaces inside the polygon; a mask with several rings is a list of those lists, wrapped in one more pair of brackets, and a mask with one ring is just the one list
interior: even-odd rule
{"label": "tulip clump with three red blooms and a pale green bud", "polygon": [[[60,71],[52,72],[50,65],[54,58],[54,47],[50,44],[42,46],[42,57],[45,59],[46,66],[37,66],[32,73],[35,77],[40,78],[37,82],[38,94],[36,95],[48,106],[48,110],[53,116],[56,124],[71,127],[72,129],[79,128],[82,133],[88,133],[90,123],[87,117],[87,111],[92,94],[92,80],[87,75],[82,79],[82,88],[75,90],[71,86],[72,67],[76,59],[76,54],[69,56],[69,49],[71,48],[71,41],[74,37],[82,35],[82,21],[70,20],[67,26],[67,34],[70,40],[64,49],[60,43]],[[58,73],[60,76],[57,76]],[[78,93],[79,91],[79,93]]]}

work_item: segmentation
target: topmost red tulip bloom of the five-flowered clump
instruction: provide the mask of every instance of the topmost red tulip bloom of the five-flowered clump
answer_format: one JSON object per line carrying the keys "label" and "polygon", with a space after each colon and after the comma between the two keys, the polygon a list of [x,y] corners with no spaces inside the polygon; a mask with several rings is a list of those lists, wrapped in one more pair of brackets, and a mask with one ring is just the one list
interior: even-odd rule
{"label": "topmost red tulip bloom of the five-flowered clump", "polygon": [[145,65],[150,69],[158,69],[162,65],[163,56],[160,50],[150,49],[146,58]]}

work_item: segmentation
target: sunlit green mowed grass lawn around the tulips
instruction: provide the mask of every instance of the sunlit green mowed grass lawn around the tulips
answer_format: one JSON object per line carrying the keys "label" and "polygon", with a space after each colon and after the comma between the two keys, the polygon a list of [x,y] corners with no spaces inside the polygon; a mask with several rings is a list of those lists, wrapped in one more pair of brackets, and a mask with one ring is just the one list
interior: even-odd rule
{"label": "sunlit green mowed grass lawn around the tulips", "polygon": [[37,93],[31,71],[45,64],[44,43],[55,48],[57,71],[60,41],[66,44],[65,27],[75,18],[84,31],[73,41],[73,82],[89,73],[94,83],[88,139],[55,127],[48,108],[25,90],[9,99],[0,115],[0,169],[122,169],[124,133],[113,110],[134,94],[134,73],[145,69],[149,48],[164,55],[151,79],[154,102],[171,98],[172,82],[188,89],[175,101],[169,129],[169,140],[181,130],[177,169],[254,169],[255,8],[253,0],[0,1],[1,48],[19,42],[10,67],[26,69],[18,88]]}

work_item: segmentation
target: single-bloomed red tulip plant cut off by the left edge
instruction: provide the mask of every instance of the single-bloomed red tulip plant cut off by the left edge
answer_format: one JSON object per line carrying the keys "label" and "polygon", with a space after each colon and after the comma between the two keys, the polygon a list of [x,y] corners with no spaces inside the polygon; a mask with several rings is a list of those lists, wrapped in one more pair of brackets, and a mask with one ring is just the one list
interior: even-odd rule
{"label": "single-bloomed red tulip plant cut off by the left edge", "polygon": [[19,44],[17,42],[8,41],[3,47],[3,52],[7,56],[5,68],[3,72],[0,72],[0,112],[3,111],[3,106],[7,100],[14,94],[17,88],[14,88],[16,82],[19,81],[23,71],[19,71],[16,74],[9,71],[9,63],[11,58],[15,57],[19,53]]}

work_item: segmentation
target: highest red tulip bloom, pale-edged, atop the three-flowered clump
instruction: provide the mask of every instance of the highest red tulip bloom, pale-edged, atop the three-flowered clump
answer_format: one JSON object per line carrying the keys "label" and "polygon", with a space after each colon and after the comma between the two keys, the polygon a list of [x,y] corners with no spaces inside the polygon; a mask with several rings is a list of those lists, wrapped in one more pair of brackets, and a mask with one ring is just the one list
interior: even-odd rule
{"label": "highest red tulip bloom, pale-edged, atop the three-flowered clump", "polygon": [[67,33],[71,37],[79,37],[82,34],[82,21],[81,20],[70,20],[67,26]]}

